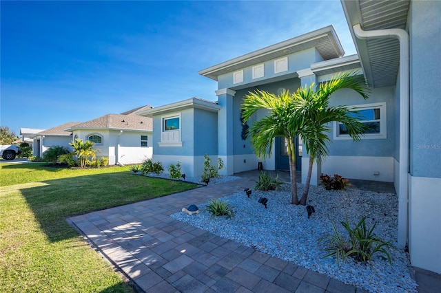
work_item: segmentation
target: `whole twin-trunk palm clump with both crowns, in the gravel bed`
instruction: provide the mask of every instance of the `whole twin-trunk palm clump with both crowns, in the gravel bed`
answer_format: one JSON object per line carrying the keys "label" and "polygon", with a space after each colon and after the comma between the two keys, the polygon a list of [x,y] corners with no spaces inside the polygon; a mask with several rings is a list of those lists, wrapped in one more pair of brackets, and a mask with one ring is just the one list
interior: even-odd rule
{"label": "whole twin-trunk palm clump with both crowns, in the gravel bed", "polygon": [[[329,99],[338,89],[354,89],[363,98],[369,98],[365,80],[356,74],[341,74],[323,83],[315,90],[314,83],[298,89],[294,94],[284,91],[278,96],[267,91],[256,90],[245,96],[242,118],[247,122],[256,111],[269,110],[268,116],[254,122],[248,129],[252,148],[259,158],[271,155],[274,138],[280,136],[287,141],[289,173],[291,178],[291,204],[306,204],[314,161],[321,163],[328,154],[327,136],[329,122],[342,122],[353,140],[360,140],[364,125],[351,116],[352,107],[330,107]],[[309,168],[305,192],[300,201],[296,183],[296,146],[294,139],[300,135],[309,153]]]}

